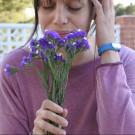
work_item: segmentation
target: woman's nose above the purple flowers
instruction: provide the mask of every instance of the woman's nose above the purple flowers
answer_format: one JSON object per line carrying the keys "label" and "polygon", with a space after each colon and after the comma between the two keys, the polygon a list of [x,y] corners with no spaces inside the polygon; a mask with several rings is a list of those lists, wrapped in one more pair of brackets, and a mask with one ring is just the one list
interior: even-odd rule
{"label": "woman's nose above the purple flowers", "polygon": [[53,23],[55,25],[66,25],[68,23],[67,13],[64,6],[56,7]]}

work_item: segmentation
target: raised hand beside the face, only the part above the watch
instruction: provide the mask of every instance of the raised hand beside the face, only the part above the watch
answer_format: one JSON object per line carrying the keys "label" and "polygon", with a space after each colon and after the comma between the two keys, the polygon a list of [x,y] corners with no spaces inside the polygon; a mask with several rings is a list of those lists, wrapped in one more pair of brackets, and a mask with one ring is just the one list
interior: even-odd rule
{"label": "raised hand beside the face, only the part above the watch", "polygon": [[104,43],[114,42],[115,12],[113,0],[91,1],[96,10],[96,44],[99,47]]}

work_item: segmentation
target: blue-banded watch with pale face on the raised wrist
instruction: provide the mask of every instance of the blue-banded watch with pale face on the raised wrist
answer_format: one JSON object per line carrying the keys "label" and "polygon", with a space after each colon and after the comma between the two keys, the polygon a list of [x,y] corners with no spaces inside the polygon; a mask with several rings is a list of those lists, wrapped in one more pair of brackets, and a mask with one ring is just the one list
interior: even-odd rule
{"label": "blue-banded watch with pale face on the raised wrist", "polygon": [[119,52],[120,49],[121,49],[121,45],[119,43],[106,43],[106,44],[102,44],[98,48],[98,54],[99,54],[99,56],[101,56],[104,52],[106,52],[108,50],[113,50],[113,51]]}

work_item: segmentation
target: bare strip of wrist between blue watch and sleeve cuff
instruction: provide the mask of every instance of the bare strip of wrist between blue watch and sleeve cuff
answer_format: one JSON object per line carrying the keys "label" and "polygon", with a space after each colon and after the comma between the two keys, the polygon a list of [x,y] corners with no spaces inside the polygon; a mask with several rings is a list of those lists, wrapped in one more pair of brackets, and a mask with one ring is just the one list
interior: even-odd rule
{"label": "bare strip of wrist between blue watch and sleeve cuff", "polygon": [[120,62],[119,52],[108,50],[101,55],[101,64]]}

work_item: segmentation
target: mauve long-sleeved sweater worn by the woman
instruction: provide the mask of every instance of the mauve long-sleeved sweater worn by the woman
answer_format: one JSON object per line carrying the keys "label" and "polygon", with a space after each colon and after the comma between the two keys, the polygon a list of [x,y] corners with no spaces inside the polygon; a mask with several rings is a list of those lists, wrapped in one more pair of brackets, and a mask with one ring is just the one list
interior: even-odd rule
{"label": "mauve long-sleeved sweater worn by the woman", "polygon": [[[0,134],[29,134],[35,113],[47,98],[35,69],[7,77],[6,63],[18,66],[22,48],[9,53],[0,70]],[[135,134],[135,51],[123,47],[121,63],[95,61],[73,67],[64,107],[69,111],[67,134]],[[42,69],[39,61],[37,68]]]}

